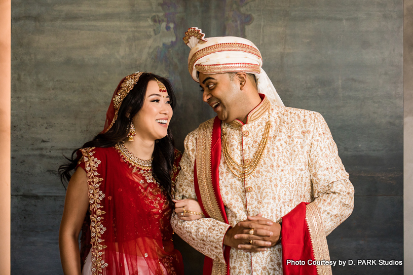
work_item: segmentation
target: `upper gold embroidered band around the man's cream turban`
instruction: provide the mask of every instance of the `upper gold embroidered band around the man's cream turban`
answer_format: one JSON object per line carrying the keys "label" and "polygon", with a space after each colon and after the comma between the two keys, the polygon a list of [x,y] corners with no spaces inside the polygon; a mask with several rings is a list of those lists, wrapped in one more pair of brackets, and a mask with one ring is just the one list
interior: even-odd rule
{"label": "upper gold embroidered band around the man's cream turban", "polygon": [[203,58],[204,56],[207,56],[215,52],[228,52],[228,51],[241,51],[241,52],[254,54],[262,60],[261,54],[259,53],[258,49],[252,46],[249,46],[246,44],[240,44],[240,43],[215,44],[215,45],[211,45],[206,48],[202,48],[192,55],[191,60],[188,63],[188,70],[190,71],[190,74],[192,75],[192,68],[194,67],[195,62],[197,62],[198,59]]}

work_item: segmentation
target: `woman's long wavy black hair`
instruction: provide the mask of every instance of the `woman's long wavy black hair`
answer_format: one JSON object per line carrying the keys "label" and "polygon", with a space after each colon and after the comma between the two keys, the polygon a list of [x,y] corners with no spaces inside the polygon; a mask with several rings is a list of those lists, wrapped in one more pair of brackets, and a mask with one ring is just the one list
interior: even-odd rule
{"label": "woman's long wavy black hair", "polygon": [[[72,175],[72,171],[76,168],[79,159],[77,158],[77,152],[79,149],[87,147],[112,147],[118,142],[124,140],[128,133],[130,122],[132,118],[139,112],[142,108],[143,102],[145,100],[146,88],[151,80],[157,78],[163,85],[165,85],[166,90],[171,101],[172,109],[175,107],[175,94],[172,85],[169,81],[159,75],[153,73],[143,73],[138,82],[135,84],[133,89],[122,101],[121,107],[119,108],[118,118],[114,125],[106,132],[100,133],[95,136],[91,141],[83,144],[82,147],[74,150],[70,158],[66,158],[68,163],[63,164],[59,167],[59,176],[62,184],[64,186],[64,181],[69,181]],[[139,131],[139,129],[136,129]],[[157,179],[159,184],[167,191],[168,199],[172,200],[171,195],[171,171],[174,162],[174,141],[172,133],[168,127],[168,135],[162,139],[158,139],[155,142],[153,161],[152,161],[152,175]]]}

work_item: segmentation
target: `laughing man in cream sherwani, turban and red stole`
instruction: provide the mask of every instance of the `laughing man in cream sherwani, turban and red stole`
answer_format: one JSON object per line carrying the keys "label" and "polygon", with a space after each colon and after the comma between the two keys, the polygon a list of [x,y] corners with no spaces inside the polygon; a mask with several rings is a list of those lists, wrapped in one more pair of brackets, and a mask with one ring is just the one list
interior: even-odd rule
{"label": "laughing man in cream sherwani, turban and red stole", "polygon": [[323,117],[284,107],[252,42],[185,34],[217,116],[186,136],[176,184],[206,218],[175,215],[173,229],[206,255],[204,274],[331,273],[325,237],[351,214],[354,188]]}

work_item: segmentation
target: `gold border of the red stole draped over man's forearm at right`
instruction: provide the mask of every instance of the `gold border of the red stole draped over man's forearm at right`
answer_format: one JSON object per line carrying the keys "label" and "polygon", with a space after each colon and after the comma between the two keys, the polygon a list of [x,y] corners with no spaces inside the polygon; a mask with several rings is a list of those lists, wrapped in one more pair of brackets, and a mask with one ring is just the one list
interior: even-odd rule
{"label": "gold border of the red stole draped over man's forearm at right", "polygon": [[[320,210],[315,203],[306,207],[306,221],[310,232],[311,245],[313,247],[314,259],[316,261],[330,260],[327,239],[325,238],[324,225]],[[317,265],[318,275],[331,275],[331,265]]]}

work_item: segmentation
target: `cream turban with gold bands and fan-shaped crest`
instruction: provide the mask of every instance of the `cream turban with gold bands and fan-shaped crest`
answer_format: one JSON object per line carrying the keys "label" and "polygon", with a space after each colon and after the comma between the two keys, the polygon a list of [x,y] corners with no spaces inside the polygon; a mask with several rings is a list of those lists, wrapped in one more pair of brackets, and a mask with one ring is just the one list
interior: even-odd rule
{"label": "cream turban with gold bands and fan-shaped crest", "polygon": [[196,82],[199,82],[197,71],[205,74],[252,73],[257,81],[258,93],[265,94],[273,104],[284,106],[262,69],[261,53],[251,41],[235,36],[205,38],[205,34],[197,27],[189,28],[183,41],[191,48],[188,69]]}

